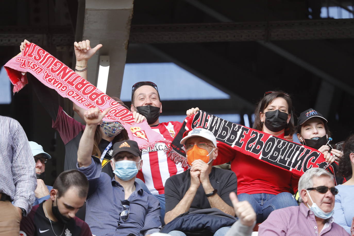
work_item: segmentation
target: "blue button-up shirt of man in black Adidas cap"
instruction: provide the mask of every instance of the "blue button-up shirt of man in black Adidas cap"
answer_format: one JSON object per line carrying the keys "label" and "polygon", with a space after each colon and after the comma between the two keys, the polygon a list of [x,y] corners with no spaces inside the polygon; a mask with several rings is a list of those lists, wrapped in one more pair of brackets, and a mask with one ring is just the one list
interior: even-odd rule
{"label": "blue button-up shirt of man in black Adidas cap", "polygon": [[91,165],[79,167],[89,180],[89,194],[86,200],[86,218],[92,234],[102,236],[129,234],[148,235],[161,229],[160,205],[157,198],[151,196],[135,182],[135,192],[127,199],[130,202],[129,218],[120,219],[124,210],[121,200],[124,200],[124,188],[101,172],[101,163],[97,158],[91,160]]}

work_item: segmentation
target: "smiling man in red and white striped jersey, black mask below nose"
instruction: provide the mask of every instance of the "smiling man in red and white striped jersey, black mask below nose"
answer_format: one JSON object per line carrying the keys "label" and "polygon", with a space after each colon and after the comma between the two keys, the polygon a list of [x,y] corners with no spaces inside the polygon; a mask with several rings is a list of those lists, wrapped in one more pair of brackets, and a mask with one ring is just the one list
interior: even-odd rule
{"label": "smiling man in red and white striped jersey, black mask below nose", "polygon": [[[187,114],[193,114],[199,108],[192,108]],[[131,111],[137,111],[146,117],[153,131],[161,134],[164,140],[172,141],[182,126],[181,122],[159,122],[162,113],[162,104],[156,84],[153,82],[137,82],[132,87]],[[165,143],[157,143],[154,148],[142,150],[144,166],[137,174],[137,178],[145,182],[149,192],[160,200],[161,220],[165,215],[165,182],[170,176],[182,173],[181,163],[175,163],[167,157]],[[139,183],[139,180],[136,180]],[[146,190],[145,190],[146,191]]]}

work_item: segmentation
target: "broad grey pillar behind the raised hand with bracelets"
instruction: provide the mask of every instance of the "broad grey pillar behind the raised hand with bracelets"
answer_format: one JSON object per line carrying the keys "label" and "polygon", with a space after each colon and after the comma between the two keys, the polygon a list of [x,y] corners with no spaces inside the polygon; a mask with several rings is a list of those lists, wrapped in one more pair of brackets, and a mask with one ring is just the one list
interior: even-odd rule
{"label": "broad grey pillar behind the raised hand with bracelets", "polygon": [[82,27],[82,38],[76,35],[76,39],[89,39],[92,47],[97,44],[103,45],[89,61],[87,79],[97,85],[99,56],[109,56],[110,68],[106,93],[109,96],[119,97],[133,15],[133,0],[86,0],[84,7],[83,25],[76,27],[77,31]]}

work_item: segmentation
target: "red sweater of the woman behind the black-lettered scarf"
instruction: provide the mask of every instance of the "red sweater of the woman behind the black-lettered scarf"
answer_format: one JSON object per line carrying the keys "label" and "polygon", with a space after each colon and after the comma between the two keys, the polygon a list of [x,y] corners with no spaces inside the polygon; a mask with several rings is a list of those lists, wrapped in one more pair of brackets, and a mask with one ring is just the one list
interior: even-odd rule
{"label": "red sweater of the woman behind the black-lettered scarf", "polygon": [[[284,133],[278,137],[284,138]],[[231,161],[231,170],[237,176],[237,194],[279,194],[297,191],[299,178],[291,172],[242,154],[226,144],[220,144],[218,142],[218,156],[213,165]]]}

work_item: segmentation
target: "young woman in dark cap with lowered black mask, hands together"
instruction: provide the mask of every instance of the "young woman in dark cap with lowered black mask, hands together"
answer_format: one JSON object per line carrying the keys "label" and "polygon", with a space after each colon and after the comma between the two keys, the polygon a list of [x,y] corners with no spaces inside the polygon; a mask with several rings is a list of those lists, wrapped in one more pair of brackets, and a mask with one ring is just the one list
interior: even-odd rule
{"label": "young woman in dark cap with lowered black mask, hands together", "polygon": [[297,123],[296,135],[301,144],[319,150],[324,155],[326,162],[332,164],[333,169],[329,170],[335,175],[336,184],[343,183],[343,176],[336,174],[338,164],[335,162],[339,161],[343,152],[326,145],[329,143],[328,138],[331,137],[326,118],[318,111],[309,108],[300,114]]}

